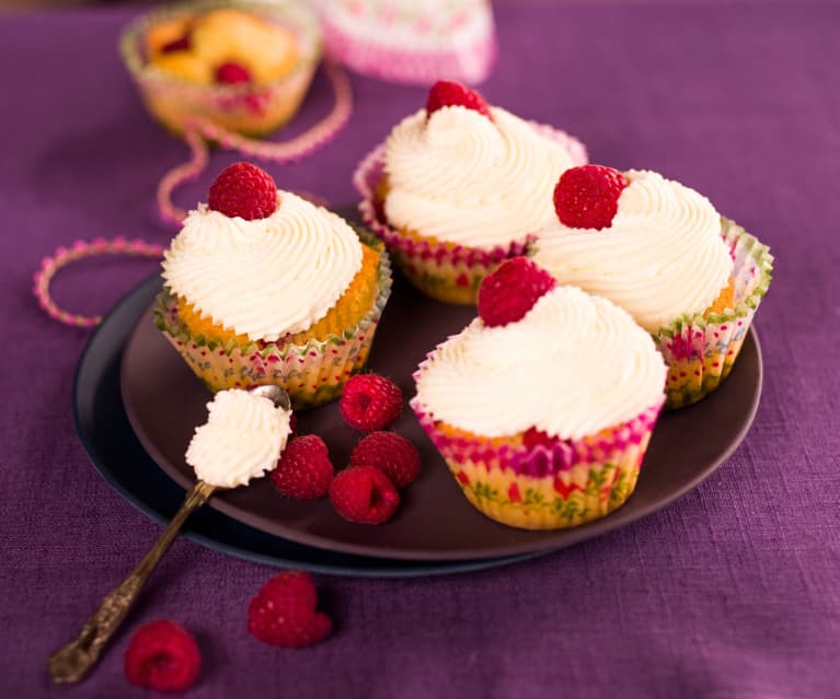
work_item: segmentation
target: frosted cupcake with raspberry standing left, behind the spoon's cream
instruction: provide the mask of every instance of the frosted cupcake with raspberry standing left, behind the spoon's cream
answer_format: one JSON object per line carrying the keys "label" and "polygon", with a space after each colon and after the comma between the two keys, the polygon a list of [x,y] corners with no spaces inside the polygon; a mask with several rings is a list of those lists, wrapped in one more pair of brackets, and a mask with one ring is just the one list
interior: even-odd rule
{"label": "frosted cupcake with raspberry standing left, behind the spoon's cream", "polygon": [[249,163],[186,217],[163,280],[158,327],[211,391],[278,384],[295,408],[361,369],[391,291],[381,243]]}

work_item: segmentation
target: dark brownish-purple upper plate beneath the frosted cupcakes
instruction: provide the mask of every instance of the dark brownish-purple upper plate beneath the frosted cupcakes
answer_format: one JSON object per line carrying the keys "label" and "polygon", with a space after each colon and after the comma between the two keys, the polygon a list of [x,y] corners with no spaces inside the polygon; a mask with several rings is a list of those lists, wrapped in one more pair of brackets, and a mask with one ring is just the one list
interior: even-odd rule
{"label": "dark brownish-purple upper plate beneath the frosted cupcakes", "polygon": [[[386,306],[368,368],[392,377],[412,396],[412,372],[425,353],[473,317],[471,307],[421,295],[402,279]],[[352,524],[329,500],[281,497],[267,478],[220,493],[209,504],[267,534],[330,551],[391,560],[468,561],[562,548],[649,514],[680,497],[723,464],[744,439],[761,392],[761,353],[755,333],[724,385],[700,404],[664,415],[656,426],[636,491],[607,517],[551,532],[527,532],[485,517],[467,501],[410,409],[393,427],[421,451],[419,478],[403,491],[396,515],[381,526]],[[179,485],[194,481],[184,452],[206,420],[210,393],[161,336],[150,312],[140,316],[122,363],[126,412],[148,454]],[[347,463],[359,434],[337,404],[299,415],[299,430],[321,435],[336,467]]]}

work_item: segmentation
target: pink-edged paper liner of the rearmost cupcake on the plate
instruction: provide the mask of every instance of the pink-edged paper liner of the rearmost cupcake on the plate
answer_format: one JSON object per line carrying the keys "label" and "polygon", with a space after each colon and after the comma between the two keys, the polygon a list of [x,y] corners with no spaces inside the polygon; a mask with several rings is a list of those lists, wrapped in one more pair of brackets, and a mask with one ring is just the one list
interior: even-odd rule
{"label": "pink-edged paper liner of the rearmost cupcake on the plate", "polygon": [[[563,145],[575,165],[587,162],[580,141],[550,126],[532,124],[542,136]],[[380,143],[359,163],[353,184],[361,196],[359,211],[365,224],[388,246],[394,264],[423,293],[446,303],[474,304],[481,280],[504,260],[523,255],[533,236],[523,236],[507,246],[476,248],[414,237],[391,228],[377,201],[377,187],[384,176],[386,144]]]}

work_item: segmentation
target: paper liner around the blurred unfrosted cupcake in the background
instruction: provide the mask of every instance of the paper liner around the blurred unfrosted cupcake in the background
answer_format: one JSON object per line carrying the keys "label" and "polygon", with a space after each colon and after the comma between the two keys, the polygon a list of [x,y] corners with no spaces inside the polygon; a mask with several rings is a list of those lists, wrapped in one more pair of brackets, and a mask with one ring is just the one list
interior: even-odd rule
{"label": "paper liner around the blurred unfrosted cupcake in the background", "polygon": [[297,34],[301,56],[288,74],[261,85],[202,85],[179,80],[147,63],[142,42],[152,26],[225,7],[230,7],[225,0],[196,0],[158,8],[131,22],[120,36],[123,60],[146,107],[154,119],[177,136],[189,130],[196,119],[246,136],[274,131],[297,113],[321,57],[318,20],[306,8],[246,0],[237,7],[266,16]]}

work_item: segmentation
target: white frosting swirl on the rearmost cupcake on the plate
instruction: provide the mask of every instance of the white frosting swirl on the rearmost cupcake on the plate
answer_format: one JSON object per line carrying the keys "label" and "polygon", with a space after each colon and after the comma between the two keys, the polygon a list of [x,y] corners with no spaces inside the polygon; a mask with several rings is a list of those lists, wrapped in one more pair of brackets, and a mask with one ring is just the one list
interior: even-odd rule
{"label": "white frosting swirl on the rearmost cupcake on the plate", "polygon": [[507,246],[554,217],[552,191],[574,163],[519,117],[465,107],[403,119],[386,143],[386,218],[394,228],[477,248]]}

